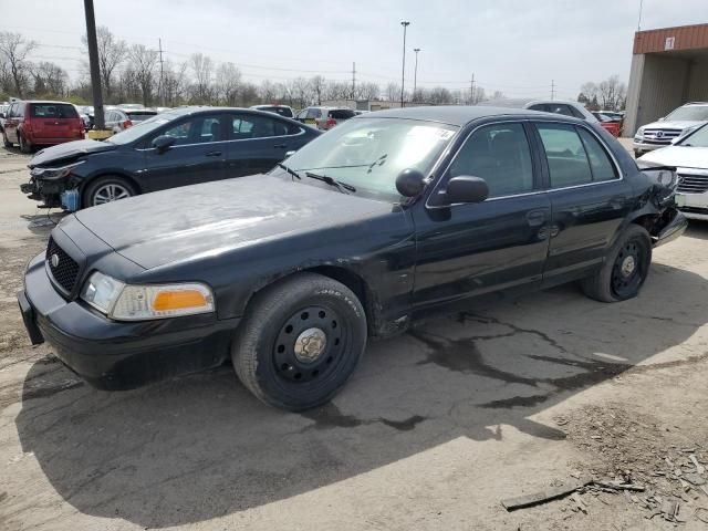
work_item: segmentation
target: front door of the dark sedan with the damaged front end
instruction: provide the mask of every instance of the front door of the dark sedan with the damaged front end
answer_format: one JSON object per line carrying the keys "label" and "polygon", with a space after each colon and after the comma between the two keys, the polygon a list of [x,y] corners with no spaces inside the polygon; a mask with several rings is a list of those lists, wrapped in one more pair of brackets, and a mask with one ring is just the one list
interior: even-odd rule
{"label": "front door of the dark sedan with the damaged front end", "polygon": [[[227,116],[189,116],[146,139],[140,146],[146,154],[143,177],[150,191],[226,178]],[[159,153],[152,142],[162,135],[175,137],[175,144]]]}

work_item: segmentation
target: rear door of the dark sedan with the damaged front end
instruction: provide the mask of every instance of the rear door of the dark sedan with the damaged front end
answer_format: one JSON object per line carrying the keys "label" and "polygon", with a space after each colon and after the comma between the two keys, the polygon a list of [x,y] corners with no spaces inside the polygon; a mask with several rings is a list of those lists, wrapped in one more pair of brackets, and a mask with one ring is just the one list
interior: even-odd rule
{"label": "rear door of the dark sedan with the damaged front end", "polygon": [[227,175],[263,174],[302,146],[302,128],[275,115],[236,113],[230,115]]}

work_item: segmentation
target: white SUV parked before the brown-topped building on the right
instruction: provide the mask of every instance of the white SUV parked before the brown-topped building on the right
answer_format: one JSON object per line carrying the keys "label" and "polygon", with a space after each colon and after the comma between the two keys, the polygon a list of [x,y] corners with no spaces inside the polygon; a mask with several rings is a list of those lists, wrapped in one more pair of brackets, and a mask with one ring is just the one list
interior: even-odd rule
{"label": "white SUV parked before the brown-topped building on the right", "polygon": [[681,105],[659,118],[639,127],[634,135],[634,155],[641,157],[653,149],[666,147],[694,128],[708,122],[708,102],[693,102]]}

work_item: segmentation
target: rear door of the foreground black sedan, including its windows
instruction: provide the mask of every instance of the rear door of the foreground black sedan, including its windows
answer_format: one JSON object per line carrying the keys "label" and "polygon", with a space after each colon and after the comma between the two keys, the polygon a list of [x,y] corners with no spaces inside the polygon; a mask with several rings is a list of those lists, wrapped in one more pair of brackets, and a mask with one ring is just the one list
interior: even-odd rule
{"label": "rear door of the foreground black sedan, including its windows", "polygon": [[552,207],[552,232],[544,283],[582,277],[600,266],[632,209],[632,187],[591,128],[535,124],[543,147]]}

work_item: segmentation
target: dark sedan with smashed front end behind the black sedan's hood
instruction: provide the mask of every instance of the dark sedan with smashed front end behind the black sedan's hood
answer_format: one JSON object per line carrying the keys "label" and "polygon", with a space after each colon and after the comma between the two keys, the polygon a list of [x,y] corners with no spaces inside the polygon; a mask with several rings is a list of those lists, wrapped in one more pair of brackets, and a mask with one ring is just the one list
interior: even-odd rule
{"label": "dark sedan with smashed front end behind the black sedan's hood", "polygon": [[177,186],[268,171],[319,135],[271,113],[180,107],[107,140],[43,149],[21,186],[45,207],[75,210]]}

